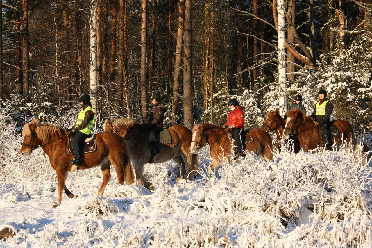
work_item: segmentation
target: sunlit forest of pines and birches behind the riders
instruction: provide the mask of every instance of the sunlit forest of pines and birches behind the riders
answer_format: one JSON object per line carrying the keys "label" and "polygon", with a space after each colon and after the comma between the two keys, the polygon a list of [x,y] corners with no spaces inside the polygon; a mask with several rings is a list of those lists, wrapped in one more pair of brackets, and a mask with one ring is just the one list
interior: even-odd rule
{"label": "sunlit forest of pines and birches behind the riders", "polygon": [[159,91],[166,125],[221,125],[237,98],[246,127],[259,127],[297,94],[311,113],[326,89],[334,118],[372,129],[371,0],[2,0],[0,8],[1,115],[18,126],[73,121],[83,93],[97,127],[107,117],[143,121]]}

